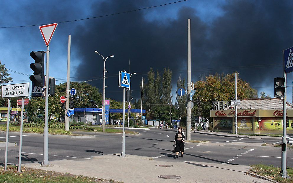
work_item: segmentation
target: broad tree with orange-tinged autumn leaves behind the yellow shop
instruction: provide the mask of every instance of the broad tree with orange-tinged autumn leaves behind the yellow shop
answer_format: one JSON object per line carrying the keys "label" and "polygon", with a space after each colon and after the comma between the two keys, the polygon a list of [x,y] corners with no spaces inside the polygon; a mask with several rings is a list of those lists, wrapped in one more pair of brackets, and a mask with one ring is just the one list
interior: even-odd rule
{"label": "broad tree with orange-tinged autumn leaves behind the yellow shop", "polygon": [[[237,75],[239,76],[239,75]],[[235,99],[235,73],[221,76],[206,76],[205,79],[195,83],[196,92],[193,99],[198,100],[202,117],[210,118],[211,102],[230,101]],[[237,99],[253,98],[257,96],[257,90],[250,84],[237,77]]]}

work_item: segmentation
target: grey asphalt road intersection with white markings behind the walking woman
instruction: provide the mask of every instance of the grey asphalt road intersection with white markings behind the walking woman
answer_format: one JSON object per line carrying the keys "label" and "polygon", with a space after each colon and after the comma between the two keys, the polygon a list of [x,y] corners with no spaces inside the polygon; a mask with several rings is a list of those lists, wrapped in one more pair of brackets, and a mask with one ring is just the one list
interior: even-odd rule
{"label": "grey asphalt road intersection with white markings behind the walking woman", "polygon": [[[256,163],[272,164],[281,166],[281,148],[255,147],[236,148],[224,147],[222,144],[231,142],[253,142],[253,143],[276,143],[277,140],[247,139],[222,137],[191,133],[193,140],[210,140],[200,146],[192,143],[185,144],[184,157],[174,159],[172,145],[176,130],[138,129],[139,135],[126,135],[126,154],[154,157],[156,161],[200,161],[224,164],[251,165]],[[49,161],[59,159],[73,159],[83,161],[92,156],[102,156],[105,154],[121,153],[121,134],[95,133],[96,138],[88,139],[67,139],[59,137],[49,137]],[[43,161],[43,135],[24,134],[22,137],[22,163]],[[5,141],[5,132],[0,133],[0,140]],[[19,144],[19,133],[9,132],[9,142]],[[213,144],[213,145],[211,145]],[[219,144],[219,145],[218,145]],[[19,147],[8,148],[8,163],[18,163]],[[0,148],[0,164],[4,163],[5,147]],[[287,166],[293,167],[293,150],[287,151]]]}

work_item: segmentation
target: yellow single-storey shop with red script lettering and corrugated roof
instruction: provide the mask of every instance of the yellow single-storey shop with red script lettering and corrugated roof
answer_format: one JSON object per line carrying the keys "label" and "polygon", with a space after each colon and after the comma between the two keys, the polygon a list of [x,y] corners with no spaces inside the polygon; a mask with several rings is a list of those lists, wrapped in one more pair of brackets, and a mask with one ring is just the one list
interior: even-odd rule
{"label": "yellow single-storey shop with red script lettering and corrugated roof", "polygon": [[[235,133],[235,105],[213,102],[213,130]],[[293,107],[287,102],[287,133],[293,133]],[[244,99],[237,105],[237,132],[242,134],[282,134],[283,100]]]}

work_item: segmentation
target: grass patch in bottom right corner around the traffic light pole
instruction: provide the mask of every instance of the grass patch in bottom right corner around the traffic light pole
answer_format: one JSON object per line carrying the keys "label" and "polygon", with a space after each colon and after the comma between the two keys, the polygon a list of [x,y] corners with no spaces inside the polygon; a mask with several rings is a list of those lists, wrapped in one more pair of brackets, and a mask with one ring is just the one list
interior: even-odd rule
{"label": "grass patch in bottom right corner around the traffic light pole", "polygon": [[270,179],[273,179],[277,182],[284,182],[284,183],[289,183],[293,182],[293,168],[287,167],[287,174],[289,175],[289,179],[284,179],[282,178],[279,173],[281,171],[281,168],[275,167],[273,165],[264,165],[264,164],[256,164],[256,165],[251,165],[250,172],[254,174],[258,174]]}

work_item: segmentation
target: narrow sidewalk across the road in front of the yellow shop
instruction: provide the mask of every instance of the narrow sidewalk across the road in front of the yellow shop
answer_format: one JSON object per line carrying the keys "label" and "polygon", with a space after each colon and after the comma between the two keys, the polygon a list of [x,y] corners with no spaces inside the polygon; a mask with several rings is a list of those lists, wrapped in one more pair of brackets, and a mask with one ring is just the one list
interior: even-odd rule
{"label": "narrow sidewalk across the road in front of the yellow shop", "polygon": [[270,137],[270,136],[253,136],[253,135],[238,135],[233,133],[225,133],[225,132],[211,132],[206,130],[194,131],[193,133],[201,133],[206,135],[217,135],[224,137],[237,137],[237,138],[252,138],[252,139],[267,139],[267,140],[282,140],[281,137]]}

